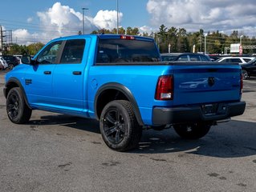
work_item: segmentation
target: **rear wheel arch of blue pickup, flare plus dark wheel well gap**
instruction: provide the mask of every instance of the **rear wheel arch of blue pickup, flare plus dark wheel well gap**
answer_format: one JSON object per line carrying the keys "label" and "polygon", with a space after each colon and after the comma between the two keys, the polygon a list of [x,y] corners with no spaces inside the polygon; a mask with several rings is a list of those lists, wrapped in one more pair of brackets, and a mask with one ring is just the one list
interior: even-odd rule
{"label": "rear wheel arch of blue pickup, flare plus dark wheel well gap", "polygon": [[[105,96],[105,97],[104,97]],[[104,109],[104,106],[108,104],[108,102],[112,102],[114,100],[127,100],[132,103],[132,109],[135,113],[137,122],[140,126],[144,126],[144,122],[142,121],[140,110],[137,105],[136,99],[132,95],[131,90],[129,90],[126,86],[111,82],[104,84],[100,87],[100,89],[95,94],[95,102],[94,102],[94,110],[95,117],[99,120],[100,114]]]}

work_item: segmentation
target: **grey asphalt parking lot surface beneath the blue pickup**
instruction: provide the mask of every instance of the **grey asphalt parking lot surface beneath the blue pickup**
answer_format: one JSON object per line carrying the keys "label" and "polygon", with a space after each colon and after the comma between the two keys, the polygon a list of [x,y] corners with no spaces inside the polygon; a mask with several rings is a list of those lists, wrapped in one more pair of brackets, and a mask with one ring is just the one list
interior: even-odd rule
{"label": "grey asphalt parking lot surface beneath the blue pickup", "polygon": [[256,191],[256,78],[244,82],[246,112],[197,141],[173,129],[144,130],[140,148],[108,149],[99,123],[33,111],[6,116],[0,71],[1,191]]}

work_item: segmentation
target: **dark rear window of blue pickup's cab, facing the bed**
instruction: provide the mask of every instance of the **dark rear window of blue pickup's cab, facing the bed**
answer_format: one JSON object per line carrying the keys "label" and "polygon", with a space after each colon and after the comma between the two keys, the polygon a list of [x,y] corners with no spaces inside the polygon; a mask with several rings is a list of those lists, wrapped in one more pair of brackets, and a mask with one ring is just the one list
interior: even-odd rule
{"label": "dark rear window of blue pickup's cab, facing the bed", "polygon": [[96,63],[159,62],[154,42],[127,39],[100,39]]}

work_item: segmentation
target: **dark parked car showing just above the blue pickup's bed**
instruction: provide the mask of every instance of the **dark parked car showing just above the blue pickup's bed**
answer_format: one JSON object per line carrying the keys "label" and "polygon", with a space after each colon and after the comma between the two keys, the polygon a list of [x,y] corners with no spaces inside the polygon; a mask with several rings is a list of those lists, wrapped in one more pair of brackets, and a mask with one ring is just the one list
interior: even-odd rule
{"label": "dark parked car showing just above the blue pickup's bed", "polygon": [[161,60],[163,62],[211,62],[208,55],[205,54],[193,54],[193,53],[171,53],[161,54]]}

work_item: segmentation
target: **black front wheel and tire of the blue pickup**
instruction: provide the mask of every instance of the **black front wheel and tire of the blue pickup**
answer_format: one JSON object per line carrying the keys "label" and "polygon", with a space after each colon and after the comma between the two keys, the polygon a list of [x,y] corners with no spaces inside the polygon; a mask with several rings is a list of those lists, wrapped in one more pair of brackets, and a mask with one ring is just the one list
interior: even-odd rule
{"label": "black front wheel and tire of the blue pickup", "polygon": [[12,88],[6,98],[6,112],[11,122],[26,123],[30,120],[32,110],[26,105],[19,87]]}

